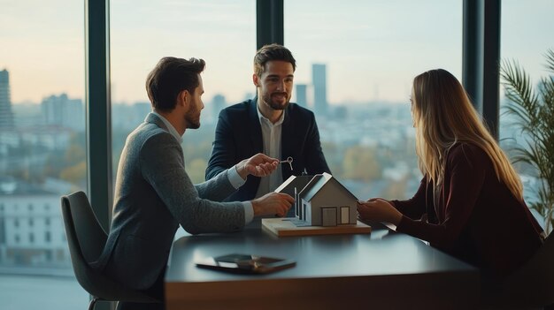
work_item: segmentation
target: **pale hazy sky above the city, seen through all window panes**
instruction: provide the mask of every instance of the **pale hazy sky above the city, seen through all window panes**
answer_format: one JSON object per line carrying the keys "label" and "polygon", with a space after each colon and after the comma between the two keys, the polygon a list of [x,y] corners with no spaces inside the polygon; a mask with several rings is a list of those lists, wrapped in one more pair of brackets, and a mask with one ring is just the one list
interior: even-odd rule
{"label": "pale hazy sky above the city, seen through all window panes", "polygon": [[[62,93],[83,98],[84,5],[53,0],[40,11],[32,10],[39,3],[31,0],[0,0],[0,5],[5,47],[0,70],[12,72],[12,103],[40,102]],[[308,84],[310,66],[327,64],[330,104],[403,102],[412,77],[436,67],[461,79],[461,1],[353,1],[335,7],[306,0],[284,5],[285,45],[298,64],[295,82]],[[504,1],[502,10],[501,57],[517,59],[536,81],[543,75],[542,54],[552,48],[543,38],[554,32],[548,14],[554,2]],[[194,16],[188,11],[195,11]],[[254,1],[112,1],[112,102],[147,101],[146,74],[167,55],[203,57],[206,98],[223,94],[229,102],[242,101],[254,91],[255,11]],[[145,14],[150,18],[143,19]]]}

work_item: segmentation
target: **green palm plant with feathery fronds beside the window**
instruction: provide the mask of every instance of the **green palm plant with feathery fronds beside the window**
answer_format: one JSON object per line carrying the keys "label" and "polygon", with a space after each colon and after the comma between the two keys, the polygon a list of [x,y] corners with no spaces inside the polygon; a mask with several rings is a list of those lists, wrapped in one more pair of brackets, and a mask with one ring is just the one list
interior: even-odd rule
{"label": "green palm plant with feathery fronds beside the window", "polygon": [[505,113],[514,117],[515,125],[525,137],[523,145],[515,147],[514,162],[528,163],[539,178],[537,201],[530,201],[545,222],[550,233],[554,224],[554,50],[546,54],[549,76],[534,87],[527,72],[514,60],[500,67],[508,104]]}

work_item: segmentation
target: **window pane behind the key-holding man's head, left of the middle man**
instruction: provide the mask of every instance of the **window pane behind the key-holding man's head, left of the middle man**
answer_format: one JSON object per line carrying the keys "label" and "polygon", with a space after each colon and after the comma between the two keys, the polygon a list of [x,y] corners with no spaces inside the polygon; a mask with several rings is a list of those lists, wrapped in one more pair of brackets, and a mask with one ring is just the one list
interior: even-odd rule
{"label": "window pane behind the key-holding man's head, left of the middle man", "polygon": [[146,76],[161,57],[203,58],[202,125],[184,136],[187,171],[204,181],[219,110],[254,94],[256,2],[120,1],[111,4],[114,174],[121,148],[148,112]]}

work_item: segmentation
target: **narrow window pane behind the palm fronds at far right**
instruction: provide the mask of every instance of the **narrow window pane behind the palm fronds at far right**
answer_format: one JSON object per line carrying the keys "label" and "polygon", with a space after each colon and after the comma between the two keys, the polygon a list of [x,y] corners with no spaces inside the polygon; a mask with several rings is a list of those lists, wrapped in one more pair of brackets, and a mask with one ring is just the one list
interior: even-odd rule
{"label": "narrow window pane behind the palm fronds at far right", "polygon": [[[544,54],[548,49],[554,49],[554,42],[550,40],[554,33],[552,11],[554,2],[548,0],[502,2],[501,58],[517,61],[530,75],[533,85],[538,85],[539,80],[546,77]],[[504,87],[501,85],[499,138],[501,147],[512,156],[515,146],[525,146],[525,137],[519,132],[518,126],[513,125],[513,117],[503,113],[506,104]],[[517,163],[516,169],[523,181],[527,202],[538,200],[536,171],[522,163]]]}

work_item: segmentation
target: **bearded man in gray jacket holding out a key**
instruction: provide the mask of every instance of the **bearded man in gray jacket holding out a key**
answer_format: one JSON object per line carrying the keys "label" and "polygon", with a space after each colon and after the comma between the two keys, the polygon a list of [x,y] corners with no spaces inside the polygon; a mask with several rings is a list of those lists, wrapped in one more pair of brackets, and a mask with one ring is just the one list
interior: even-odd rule
{"label": "bearded man in gray jacket holding out a key", "polygon": [[153,111],[127,137],[119,160],[110,235],[93,263],[107,276],[160,300],[165,266],[180,224],[192,234],[240,231],[254,216],[285,215],[293,203],[282,193],[217,202],[234,193],[249,175],[264,177],[277,168],[279,161],[263,154],[202,184],[192,184],[181,136],[188,128],[200,126],[204,65],[202,59],[164,57],[150,72],[146,89]]}

